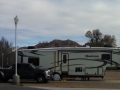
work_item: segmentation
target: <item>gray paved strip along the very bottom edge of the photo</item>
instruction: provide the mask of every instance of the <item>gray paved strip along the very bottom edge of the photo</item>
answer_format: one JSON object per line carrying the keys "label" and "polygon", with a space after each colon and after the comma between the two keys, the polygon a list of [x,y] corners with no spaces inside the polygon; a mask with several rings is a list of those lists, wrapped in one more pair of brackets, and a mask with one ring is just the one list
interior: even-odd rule
{"label": "gray paved strip along the very bottom edge of the photo", "polygon": [[52,88],[35,86],[18,86],[11,83],[0,83],[0,90],[120,90],[120,89],[100,89],[100,88]]}

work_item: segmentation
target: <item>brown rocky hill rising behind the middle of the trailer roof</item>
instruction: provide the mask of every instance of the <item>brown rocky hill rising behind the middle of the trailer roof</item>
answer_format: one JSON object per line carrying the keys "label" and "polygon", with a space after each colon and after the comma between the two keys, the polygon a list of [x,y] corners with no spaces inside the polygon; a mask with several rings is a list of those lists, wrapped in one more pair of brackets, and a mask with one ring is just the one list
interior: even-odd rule
{"label": "brown rocky hill rising behind the middle of the trailer roof", "polygon": [[72,40],[53,40],[51,42],[42,42],[35,45],[36,48],[48,48],[48,47],[80,47],[77,42]]}

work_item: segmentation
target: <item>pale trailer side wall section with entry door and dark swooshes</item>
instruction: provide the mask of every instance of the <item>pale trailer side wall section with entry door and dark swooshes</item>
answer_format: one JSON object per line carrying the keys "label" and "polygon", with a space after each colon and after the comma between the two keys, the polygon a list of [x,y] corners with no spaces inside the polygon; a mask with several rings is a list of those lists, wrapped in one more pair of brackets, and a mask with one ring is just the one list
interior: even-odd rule
{"label": "pale trailer side wall section with entry door and dark swooshes", "polygon": [[[66,55],[66,62],[63,61],[64,55]],[[111,52],[60,51],[59,66],[61,69],[61,74],[64,72],[68,75],[77,76],[103,76],[106,67],[111,66],[111,63],[106,63],[106,61],[102,60],[107,58],[109,59],[107,61],[111,62]]]}

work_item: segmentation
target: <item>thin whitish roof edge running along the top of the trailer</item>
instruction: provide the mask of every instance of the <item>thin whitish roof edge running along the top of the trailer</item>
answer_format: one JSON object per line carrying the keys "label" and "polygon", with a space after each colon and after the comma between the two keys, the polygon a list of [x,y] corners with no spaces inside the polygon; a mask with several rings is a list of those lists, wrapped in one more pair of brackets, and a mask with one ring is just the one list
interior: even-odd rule
{"label": "thin whitish roof edge running along the top of the trailer", "polygon": [[24,50],[40,50],[40,51],[57,51],[57,50],[119,50],[118,47],[52,47],[52,48],[36,48],[36,49],[21,49]]}

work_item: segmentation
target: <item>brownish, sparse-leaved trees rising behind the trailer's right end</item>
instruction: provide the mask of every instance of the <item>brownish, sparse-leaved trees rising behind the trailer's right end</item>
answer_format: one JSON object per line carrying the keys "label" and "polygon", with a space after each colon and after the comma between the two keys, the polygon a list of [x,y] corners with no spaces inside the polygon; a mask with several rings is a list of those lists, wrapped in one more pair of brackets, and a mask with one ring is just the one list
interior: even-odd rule
{"label": "brownish, sparse-leaved trees rising behind the trailer's right end", "polygon": [[111,35],[102,35],[102,33],[96,29],[92,32],[89,30],[85,34],[86,37],[88,37],[90,40],[85,45],[95,46],[95,47],[103,47],[106,46],[116,46],[116,38],[115,36]]}

